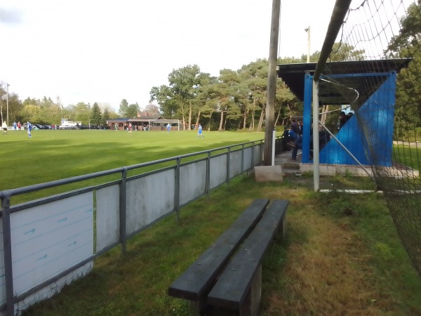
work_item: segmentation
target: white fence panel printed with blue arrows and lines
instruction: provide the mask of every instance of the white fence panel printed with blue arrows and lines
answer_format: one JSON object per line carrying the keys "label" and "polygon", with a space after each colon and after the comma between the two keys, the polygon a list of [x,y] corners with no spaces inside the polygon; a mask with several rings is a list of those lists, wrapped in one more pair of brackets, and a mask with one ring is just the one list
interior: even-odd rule
{"label": "white fence panel printed with blue arrows and lines", "polygon": [[22,294],[93,255],[93,193],[11,213],[13,284]]}

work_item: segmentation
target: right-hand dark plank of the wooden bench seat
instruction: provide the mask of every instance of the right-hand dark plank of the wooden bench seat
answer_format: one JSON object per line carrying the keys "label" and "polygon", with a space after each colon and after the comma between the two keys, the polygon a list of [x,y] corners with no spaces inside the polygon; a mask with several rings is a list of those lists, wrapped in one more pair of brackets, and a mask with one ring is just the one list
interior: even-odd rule
{"label": "right-hand dark plank of the wooden bench seat", "polygon": [[241,308],[250,284],[262,264],[262,258],[283,221],[287,206],[286,200],[275,200],[269,205],[258,225],[208,294],[209,305],[237,310]]}

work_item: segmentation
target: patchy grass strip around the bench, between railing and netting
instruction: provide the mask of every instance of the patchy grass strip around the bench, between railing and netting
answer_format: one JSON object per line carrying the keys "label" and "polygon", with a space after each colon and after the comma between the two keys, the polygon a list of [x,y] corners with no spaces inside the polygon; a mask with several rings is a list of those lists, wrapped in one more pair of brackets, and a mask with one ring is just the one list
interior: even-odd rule
{"label": "patchy grass strip around the bench, between railing and netting", "polygon": [[[359,178],[343,181],[358,186]],[[288,238],[263,262],[260,315],[421,315],[421,278],[382,195],[314,193],[302,178],[251,177],[185,206],[180,223],[168,217],[133,237],[126,256],[109,251],[90,275],[23,315],[188,315],[168,286],[260,197],[290,201]]]}

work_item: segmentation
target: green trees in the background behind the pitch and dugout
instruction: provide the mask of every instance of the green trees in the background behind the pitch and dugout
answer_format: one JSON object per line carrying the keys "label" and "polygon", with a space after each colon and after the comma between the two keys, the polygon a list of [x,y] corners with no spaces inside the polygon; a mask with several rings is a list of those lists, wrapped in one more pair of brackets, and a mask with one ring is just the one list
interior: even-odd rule
{"label": "green trees in the background behind the pitch and dugout", "polygon": [[[398,74],[396,84],[395,131],[401,133],[421,124],[421,4],[411,4],[408,14],[401,19],[402,29],[393,37],[385,55],[390,58],[413,58],[408,68]],[[363,60],[364,51],[345,43],[335,43],[328,61]],[[319,60],[320,52],[310,56],[310,62]],[[300,58],[279,58],[279,64],[305,63]],[[168,84],[153,86],[149,92],[149,105],[144,112],[166,119],[180,119],[185,129],[201,123],[211,130],[263,129],[267,100],[266,59],[243,65],[239,70],[220,70],[218,77],[201,72],[198,65],[187,65],[168,74]],[[0,86],[0,95],[6,93]],[[158,105],[153,105],[156,102]],[[1,120],[6,119],[6,100],[0,99]],[[138,103],[128,104],[122,99],[118,113],[107,105],[92,106],[77,103],[64,107],[60,98],[52,100],[27,98],[21,101],[17,94],[8,97],[8,116],[11,121],[32,121],[39,124],[58,124],[62,118],[82,121],[82,124],[105,124],[116,117],[134,118],[141,111]],[[302,115],[302,102],[279,79],[276,88],[275,126],[288,123],[291,115]],[[410,127],[408,127],[410,126]]]}

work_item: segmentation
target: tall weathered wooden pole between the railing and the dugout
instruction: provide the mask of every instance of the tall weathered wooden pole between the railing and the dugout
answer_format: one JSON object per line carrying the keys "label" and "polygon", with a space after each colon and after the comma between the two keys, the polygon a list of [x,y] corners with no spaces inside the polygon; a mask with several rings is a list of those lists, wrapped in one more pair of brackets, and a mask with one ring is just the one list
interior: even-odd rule
{"label": "tall weathered wooden pole between the railing and the dugout", "polygon": [[267,74],[267,102],[265,119],[265,150],[264,164],[272,165],[272,142],[274,138],[274,116],[276,100],[276,63],[278,59],[279,16],[281,15],[281,0],[272,1],[272,22],[270,27],[269,71]]}

